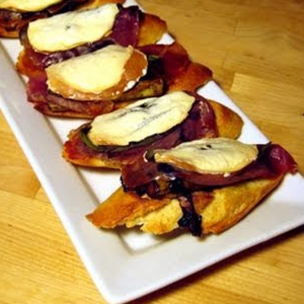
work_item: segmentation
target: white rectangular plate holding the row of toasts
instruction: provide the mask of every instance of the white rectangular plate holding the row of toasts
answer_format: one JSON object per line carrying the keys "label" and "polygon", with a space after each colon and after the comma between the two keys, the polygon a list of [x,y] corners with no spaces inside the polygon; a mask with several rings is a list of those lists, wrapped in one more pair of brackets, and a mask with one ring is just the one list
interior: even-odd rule
{"label": "white rectangular plate holding the row of toasts", "polygon": [[[165,41],[169,40],[166,36]],[[122,303],[140,297],[304,223],[304,180],[296,174],[288,175],[249,216],[219,236],[151,237],[137,230],[96,229],[85,219],[85,214],[119,186],[119,173],[78,169],[61,158],[68,131],[83,121],[49,119],[32,109],[26,101],[24,83],[13,65],[20,49],[17,41],[1,40],[1,109],[88,272],[108,302]],[[242,141],[268,141],[214,82],[209,82],[199,93],[242,116],[245,122]]]}

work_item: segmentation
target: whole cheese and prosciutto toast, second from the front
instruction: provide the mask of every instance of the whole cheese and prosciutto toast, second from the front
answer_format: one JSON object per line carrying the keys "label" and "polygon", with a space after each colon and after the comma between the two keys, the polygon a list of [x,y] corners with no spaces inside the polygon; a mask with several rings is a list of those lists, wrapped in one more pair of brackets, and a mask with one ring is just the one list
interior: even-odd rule
{"label": "whole cheese and prosciutto toast, second from the front", "polygon": [[77,165],[119,169],[143,158],[149,149],[203,137],[237,138],[242,126],[229,108],[176,91],[138,100],[71,131],[62,155]]}

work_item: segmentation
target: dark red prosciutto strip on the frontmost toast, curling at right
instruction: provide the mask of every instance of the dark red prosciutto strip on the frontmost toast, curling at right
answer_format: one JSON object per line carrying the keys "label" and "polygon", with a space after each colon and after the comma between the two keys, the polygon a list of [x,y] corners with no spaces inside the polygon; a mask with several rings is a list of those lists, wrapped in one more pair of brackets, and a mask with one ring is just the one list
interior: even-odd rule
{"label": "dark red prosciutto strip on the frontmost toast, curling at right", "polygon": [[158,198],[169,193],[210,191],[212,188],[233,185],[258,178],[274,179],[285,173],[295,173],[297,164],[278,144],[258,144],[257,159],[243,169],[230,174],[197,173],[173,165],[143,162],[141,159],[122,168],[125,191],[136,191]]}

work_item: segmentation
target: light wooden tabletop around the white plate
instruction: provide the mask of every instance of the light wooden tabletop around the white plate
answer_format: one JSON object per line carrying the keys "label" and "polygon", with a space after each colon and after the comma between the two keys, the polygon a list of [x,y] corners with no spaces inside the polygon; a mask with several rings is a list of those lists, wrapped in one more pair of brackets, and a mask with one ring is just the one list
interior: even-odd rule
{"label": "light wooden tabletop around the white plate", "polygon": [[[303,174],[304,1],[139,3]],[[105,303],[3,116],[0,146],[0,303]],[[304,303],[303,226],[133,303],[236,302]]]}

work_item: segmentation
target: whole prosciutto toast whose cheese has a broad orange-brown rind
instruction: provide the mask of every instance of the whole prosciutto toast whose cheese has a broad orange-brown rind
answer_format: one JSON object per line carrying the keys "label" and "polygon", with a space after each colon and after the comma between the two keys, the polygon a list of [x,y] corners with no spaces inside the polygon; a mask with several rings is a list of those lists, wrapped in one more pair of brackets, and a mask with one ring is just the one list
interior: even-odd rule
{"label": "whole prosciutto toast whose cheese has a broad orange-brown rind", "polygon": [[194,91],[211,77],[177,43],[139,49],[115,44],[33,74],[27,98],[45,115],[92,119],[140,98]]}

